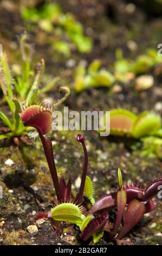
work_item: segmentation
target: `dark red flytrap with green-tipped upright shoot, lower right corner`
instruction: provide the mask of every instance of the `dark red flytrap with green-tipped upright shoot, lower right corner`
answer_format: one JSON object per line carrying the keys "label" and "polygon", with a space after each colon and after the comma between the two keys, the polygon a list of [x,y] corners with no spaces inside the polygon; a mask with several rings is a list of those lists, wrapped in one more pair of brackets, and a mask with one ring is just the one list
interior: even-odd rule
{"label": "dark red flytrap with green-tipped upright shoot, lower right corner", "polygon": [[[92,209],[89,210],[89,214],[105,211],[111,214],[112,209],[117,208],[113,231],[105,229],[110,237],[114,237],[115,234],[117,234],[116,239],[113,238],[113,241],[122,239],[122,237],[124,237],[147,212],[155,209],[154,197],[158,193],[158,186],[162,184],[162,178],[159,178],[152,181],[144,188],[141,184],[133,184],[132,181],[122,185],[120,169],[118,169],[118,178],[118,191],[111,194],[105,194],[96,200]],[[122,218],[124,218],[124,224],[118,233]]]}

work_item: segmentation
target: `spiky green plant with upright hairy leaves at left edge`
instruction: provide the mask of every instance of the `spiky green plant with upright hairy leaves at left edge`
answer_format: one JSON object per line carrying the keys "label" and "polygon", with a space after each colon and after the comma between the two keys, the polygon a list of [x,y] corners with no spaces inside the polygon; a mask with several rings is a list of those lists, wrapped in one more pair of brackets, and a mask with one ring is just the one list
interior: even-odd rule
{"label": "spiky green plant with upright hairy leaves at left edge", "polygon": [[[10,129],[9,132],[0,135],[0,139],[27,134],[30,130],[29,127],[24,127],[18,114],[20,113],[18,98],[25,99],[25,105],[28,106],[31,102],[36,102],[42,93],[52,89],[59,80],[59,77],[56,77],[47,86],[40,88],[44,72],[44,60],[41,59],[35,65],[35,70],[31,70],[31,48],[26,39],[27,35],[23,35],[20,39],[22,65],[21,71],[16,72],[15,76],[12,76],[9,70],[7,54],[4,52],[3,56],[0,57],[0,85],[3,93],[1,106],[7,103],[11,112],[11,117],[8,117],[0,110],[0,119]],[[67,92],[69,94],[69,90]]]}

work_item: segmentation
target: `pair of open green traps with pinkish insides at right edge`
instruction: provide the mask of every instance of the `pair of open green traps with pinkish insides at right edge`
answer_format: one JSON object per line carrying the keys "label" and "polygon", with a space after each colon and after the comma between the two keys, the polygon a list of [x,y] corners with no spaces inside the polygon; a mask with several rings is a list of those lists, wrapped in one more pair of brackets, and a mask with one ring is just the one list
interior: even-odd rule
{"label": "pair of open green traps with pinkish insides at right edge", "polygon": [[111,135],[129,136],[140,139],[146,136],[161,136],[161,118],[154,112],[133,114],[123,108],[112,109],[110,112]]}

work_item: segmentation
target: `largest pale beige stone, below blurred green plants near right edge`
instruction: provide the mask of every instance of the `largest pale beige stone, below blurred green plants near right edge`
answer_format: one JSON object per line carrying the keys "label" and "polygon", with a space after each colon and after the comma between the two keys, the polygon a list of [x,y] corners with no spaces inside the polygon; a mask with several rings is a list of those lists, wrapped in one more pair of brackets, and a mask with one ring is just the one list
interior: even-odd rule
{"label": "largest pale beige stone, below blurred green plants near right edge", "polygon": [[152,87],[154,84],[153,76],[149,75],[142,75],[139,76],[135,81],[135,89],[140,90],[147,90],[148,88]]}

